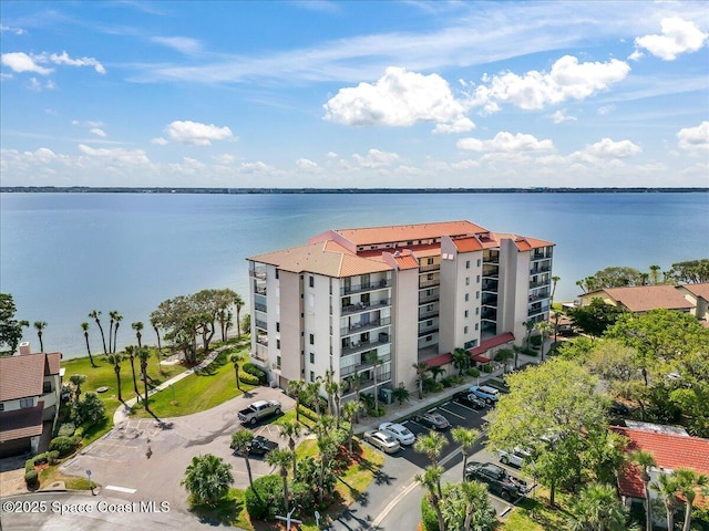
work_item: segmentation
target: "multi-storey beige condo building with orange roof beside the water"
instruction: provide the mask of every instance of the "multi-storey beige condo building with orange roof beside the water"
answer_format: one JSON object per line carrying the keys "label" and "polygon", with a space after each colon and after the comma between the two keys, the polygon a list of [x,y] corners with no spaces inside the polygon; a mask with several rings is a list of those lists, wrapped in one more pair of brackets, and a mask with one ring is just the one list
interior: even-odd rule
{"label": "multi-storey beige condo building with orange roof beside the water", "polygon": [[[248,258],[251,362],[271,385],[359,374],[415,389],[413,364],[487,361],[548,320],[554,243],[470,221],[328,230]],[[347,396],[347,393],[346,393]]]}

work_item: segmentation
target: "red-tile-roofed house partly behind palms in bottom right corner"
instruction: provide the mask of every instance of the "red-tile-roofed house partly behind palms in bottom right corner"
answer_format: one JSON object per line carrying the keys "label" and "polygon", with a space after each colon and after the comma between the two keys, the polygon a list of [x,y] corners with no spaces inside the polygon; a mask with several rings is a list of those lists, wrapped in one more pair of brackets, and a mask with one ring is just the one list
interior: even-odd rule
{"label": "red-tile-roofed house partly behind palms in bottom right corner", "polygon": [[[691,468],[709,475],[709,439],[691,437],[682,428],[658,426],[647,423],[626,421],[628,426],[613,426],[610,429],[628,438],[626,452],[645,450],[655,457],[657,464],[649,471],[650,485],[657,482],[662,473],[671,473],[677,468]],[[626,466],[618,475],[618,490],[627,504],[644,502],[645,486],[640,479],[640,469]],[[650,498],[657,498],[650,490]],[[660,506],[661,507],[661,506]],[[665,511],[656,512],[658,527],[665,522]]]}

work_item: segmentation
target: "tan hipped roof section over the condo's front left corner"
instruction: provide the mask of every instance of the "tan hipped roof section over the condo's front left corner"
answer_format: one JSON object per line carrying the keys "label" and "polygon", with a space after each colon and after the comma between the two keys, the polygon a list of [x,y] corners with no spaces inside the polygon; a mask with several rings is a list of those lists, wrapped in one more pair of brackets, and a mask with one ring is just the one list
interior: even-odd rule
{"label": "tan hipped roof section over the condo's front left corner", "polygon": [[[340,249],[330,250],[335,249],[335,246]],[[369,260],[349,251],[345,252],[341,249],[340,246],[331,241],[316,242],[258,254],[249,258],[249,260],[269,263],[294,273],[308,272],[333,278],[391,271],[392,269],[382,261]]]}

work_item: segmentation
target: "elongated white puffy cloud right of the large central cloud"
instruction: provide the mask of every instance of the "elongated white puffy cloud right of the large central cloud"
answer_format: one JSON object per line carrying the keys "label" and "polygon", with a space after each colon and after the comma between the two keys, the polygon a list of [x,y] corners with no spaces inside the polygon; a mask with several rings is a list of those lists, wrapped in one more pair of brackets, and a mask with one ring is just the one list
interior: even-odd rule
{"label": "elongated white puffy cloud right of the large central cloud", "polygon": [[629,72],[628,63],[617,59],[607,63],[579,63],[578,59],[564,55],[554,63],[549,73],[533,70],[523,75],[506,72],[483,76],[486,85],[475,88],[471,104],[483,107],[486,114],[499,111],[499,102],[523,110],[544,108],[567,100],[585,100],[623,81]]}

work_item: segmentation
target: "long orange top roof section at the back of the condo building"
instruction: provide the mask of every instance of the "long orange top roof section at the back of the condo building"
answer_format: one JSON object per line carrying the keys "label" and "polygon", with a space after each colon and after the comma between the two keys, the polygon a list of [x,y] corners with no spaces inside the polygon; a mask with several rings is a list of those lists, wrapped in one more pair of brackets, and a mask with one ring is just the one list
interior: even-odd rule
{"label": "long orange top roof section at the back of the condo building", "polygon": [[394,225],[361,229],[337,229],[336,232],[357,246],[371,246],[393,241],[418,241],[446,236],[465,236],[486,232],[486,229],[470,221],[440,221],[433,223]]}

